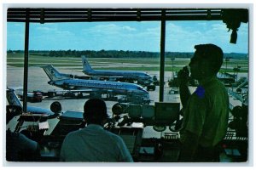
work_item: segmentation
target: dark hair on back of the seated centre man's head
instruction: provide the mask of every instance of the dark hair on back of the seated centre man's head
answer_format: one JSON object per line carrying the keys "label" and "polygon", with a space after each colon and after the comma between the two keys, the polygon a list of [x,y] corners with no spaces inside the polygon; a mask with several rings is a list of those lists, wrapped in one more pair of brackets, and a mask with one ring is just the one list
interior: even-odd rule
{"label": "dark hair on back of the seated centre man's head", "polygon": [[108,118],[107,106],[102,99],[88,99],[84,104],[84,119],[87,123],[102,124]]}

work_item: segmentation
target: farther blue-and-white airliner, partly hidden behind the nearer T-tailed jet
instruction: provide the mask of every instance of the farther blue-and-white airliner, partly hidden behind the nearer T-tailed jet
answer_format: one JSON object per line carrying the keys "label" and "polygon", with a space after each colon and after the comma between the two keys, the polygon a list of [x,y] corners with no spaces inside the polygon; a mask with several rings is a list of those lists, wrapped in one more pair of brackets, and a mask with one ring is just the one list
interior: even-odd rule
{"label": "farther blue-and-white airliner, partly hidden behind the nearer T-tailed jet", "polygon": [[107,71],[107,70],[94,70],[91,68],[88,60],[82,55],[83,72],[86,75],[106,78],[111,81],[120,82],[135,82],[141,85],[149,85],[153,82],[153,77],[148,73],[142,71]]}

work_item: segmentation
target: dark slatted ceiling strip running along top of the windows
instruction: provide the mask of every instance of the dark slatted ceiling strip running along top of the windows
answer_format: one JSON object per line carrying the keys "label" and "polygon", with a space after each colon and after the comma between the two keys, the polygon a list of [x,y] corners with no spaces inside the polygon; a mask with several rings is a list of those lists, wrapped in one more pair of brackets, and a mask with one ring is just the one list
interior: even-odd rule
{"label": "dark slatted ceiling strip running along top of the windows", "polygon": [[222,20],[221,8],[8,8],[8,22]]}

